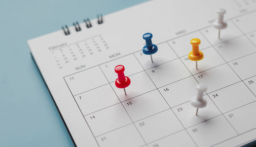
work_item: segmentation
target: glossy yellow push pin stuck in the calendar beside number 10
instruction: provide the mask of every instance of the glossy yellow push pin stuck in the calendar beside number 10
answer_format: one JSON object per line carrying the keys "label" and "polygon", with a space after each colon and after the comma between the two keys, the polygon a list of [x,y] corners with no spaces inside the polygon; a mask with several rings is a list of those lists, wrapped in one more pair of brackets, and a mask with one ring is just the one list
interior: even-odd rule
{"label": "glossy yellow push pin stuck in the calendar beside number 10", "polygon": [[189,53],[189,60],[196,61],[197,69],[197,61],[203,59],[203,53],[199,51],[199,45],[201,44],[201,41],[198,38],[194,38],[191,39],[190,44],[192,45],[192,51]]}

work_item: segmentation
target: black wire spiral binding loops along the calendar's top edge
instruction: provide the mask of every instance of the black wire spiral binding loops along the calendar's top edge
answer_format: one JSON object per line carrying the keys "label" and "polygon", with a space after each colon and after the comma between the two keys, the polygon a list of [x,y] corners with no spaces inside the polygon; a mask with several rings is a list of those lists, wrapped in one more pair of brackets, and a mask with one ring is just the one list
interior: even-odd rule
{"label": "black wire spiral binding loops along the calendar's top edge", "polygon": [[[85,22],[85,25],[86,25],[87,28],[92,27],[89,18],[84,19],[84,22]],[[100,14],[100,15],[97,14],[97,23],[98,23],[99,25],[103,23],[102,14]],[[81,27],[80,27],[80,25],[78,24],[78,21],[77,21],[76,23],[73,23],[73,26],[75,26],[76,32],[79,32],[79,31],[82,30]],[[65,25],[65,28],[62,26],[62,29],[63,29],[65,35],[69,35],[69,34],[70,34],[70,31],[69,31],[69,28],[67,27],[67,25]]]}

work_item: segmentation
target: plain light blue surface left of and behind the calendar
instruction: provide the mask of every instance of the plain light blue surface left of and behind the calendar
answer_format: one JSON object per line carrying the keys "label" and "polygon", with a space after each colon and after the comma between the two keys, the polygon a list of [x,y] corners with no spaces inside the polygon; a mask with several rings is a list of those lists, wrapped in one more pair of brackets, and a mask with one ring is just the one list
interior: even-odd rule
{"label": "plain light blue surface left of and behind the calendar", "polygon": [[0,2],[0,146],[73,143],[34,64],[27,40],[147,0]]}

